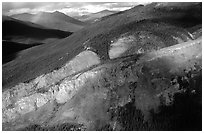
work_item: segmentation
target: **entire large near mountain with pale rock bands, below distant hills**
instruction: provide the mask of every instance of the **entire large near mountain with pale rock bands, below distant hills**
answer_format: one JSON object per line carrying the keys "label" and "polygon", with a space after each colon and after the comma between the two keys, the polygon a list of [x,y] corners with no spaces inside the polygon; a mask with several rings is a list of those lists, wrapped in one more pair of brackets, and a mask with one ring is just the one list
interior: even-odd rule
{"label": "entire large near mountain with pale rock bands, below distant hills", "polygon": [[202,130],[202,3],[157,5],[3,65],[3,130]]}

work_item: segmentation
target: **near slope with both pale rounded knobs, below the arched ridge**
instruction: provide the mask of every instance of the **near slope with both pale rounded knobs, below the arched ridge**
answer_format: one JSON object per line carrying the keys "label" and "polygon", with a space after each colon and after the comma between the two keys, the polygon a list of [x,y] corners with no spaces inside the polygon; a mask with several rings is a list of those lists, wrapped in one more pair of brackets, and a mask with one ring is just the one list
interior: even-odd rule
{"label": "near slope with both pale rounded knobs, below the arched ridge", "polygon": [[84,40],[63,67],[5,89],[3,129],[201,130],[199,30],[158,19],[117,29]]}

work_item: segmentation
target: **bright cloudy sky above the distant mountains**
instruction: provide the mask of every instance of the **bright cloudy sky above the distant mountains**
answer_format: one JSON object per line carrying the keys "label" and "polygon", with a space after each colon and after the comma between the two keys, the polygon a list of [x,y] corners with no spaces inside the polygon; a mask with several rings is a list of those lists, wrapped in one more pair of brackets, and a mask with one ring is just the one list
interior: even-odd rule
{"label": "bright cloudy sky above the distant mountains", "polygon": [[[60,11],[70,16],[95,13],[105,9],[123,11],[132,8],[138,2],[3,2],[2,13],[13,15],[19,13],[38,13],[40,11]],[[144,3],[145,4],[145,3]]]}

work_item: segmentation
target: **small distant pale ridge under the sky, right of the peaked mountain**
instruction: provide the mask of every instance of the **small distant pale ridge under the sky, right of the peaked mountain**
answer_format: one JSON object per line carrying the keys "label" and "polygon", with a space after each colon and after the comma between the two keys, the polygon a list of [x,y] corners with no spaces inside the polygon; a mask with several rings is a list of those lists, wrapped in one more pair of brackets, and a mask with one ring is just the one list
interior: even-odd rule
{"label": "small distant pale ridge under the sky, right of the peaked mountain", "polygon": [[88,15],[77,16],[75,18],[83,22],[93,23],[95,21],[99,21],[100,18],[102,17],[108,16],[111,14],[115,14],[115,13],[117,13],[117,11],[102,10],[100,12],[90,13]]}

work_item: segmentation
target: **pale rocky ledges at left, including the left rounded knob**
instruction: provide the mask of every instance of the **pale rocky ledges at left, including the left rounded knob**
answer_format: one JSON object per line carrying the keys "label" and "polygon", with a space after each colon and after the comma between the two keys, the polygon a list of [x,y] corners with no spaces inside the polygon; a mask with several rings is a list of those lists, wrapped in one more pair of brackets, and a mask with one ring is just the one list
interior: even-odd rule
{"label": "pale rocky ledges at left, including the left rounded knob", "polygon": [[[84,75],[85,77],[81,77],[82,79],[78,78],[77,83],[73,82],[68,76],[96,65],[99,62],[100,60],[95,53],[84,51],[59,70],[41,75],[28,83],[20,83],[4,91],[3,122],[11,121],[18,116],[34,111],[55,98],[61,103],[60,101],[65,98],[66,91],[68,91],[64,88],[72,87],[70,88],[71,90],[73,87],[78,88],[75,85],[80,86],[83,84],[84,78],[89,75]],[[73,77],[73,80],[76,77],[77,75]]]}

